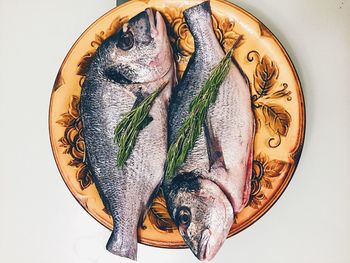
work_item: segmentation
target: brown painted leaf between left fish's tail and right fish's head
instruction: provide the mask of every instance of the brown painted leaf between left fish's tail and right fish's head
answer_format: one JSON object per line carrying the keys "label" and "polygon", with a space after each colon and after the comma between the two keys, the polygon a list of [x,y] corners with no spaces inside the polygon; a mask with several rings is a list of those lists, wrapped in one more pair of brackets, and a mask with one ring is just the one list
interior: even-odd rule
{"label": "brown painted leaf between left fish's tail and right fish's head", "polygon": [[160,191],[159,195],[153,200],[148,215],[151,223],[159,230],[173,232],[173,230],[176,229],[176,226],[168,213],[162,191]]}

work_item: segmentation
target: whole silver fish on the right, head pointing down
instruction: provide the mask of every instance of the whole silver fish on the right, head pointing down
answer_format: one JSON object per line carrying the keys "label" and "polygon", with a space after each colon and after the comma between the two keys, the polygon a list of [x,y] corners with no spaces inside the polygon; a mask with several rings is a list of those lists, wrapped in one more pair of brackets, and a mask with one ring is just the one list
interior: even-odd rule
{"label": "whole silver fish on the right, head pointing down", "polygon": [[[184,11],[195,52],[169,106],[169,144],[188,116],[191,101],[225,56],[212,27],[210,3]],[[203,131],[164,193],[170,215],[192,252],[210,260],[226,240],[234,214],[250,194],[254,116],[249,82],[236,62],[210,106]]]}

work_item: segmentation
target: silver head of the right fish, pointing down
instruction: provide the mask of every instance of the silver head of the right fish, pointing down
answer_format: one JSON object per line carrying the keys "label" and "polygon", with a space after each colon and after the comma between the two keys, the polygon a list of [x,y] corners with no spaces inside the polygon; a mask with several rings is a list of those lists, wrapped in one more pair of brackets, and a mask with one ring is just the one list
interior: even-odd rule
{"label": "silver head of the right fish, pointing down", "polygon": [[168,208],[181,236],[199,260],[212,259],[233,224],[231,203],[212,181],[200,173],[177,175]]}

